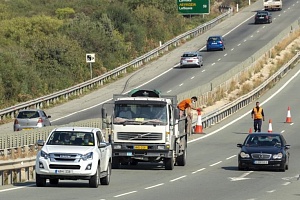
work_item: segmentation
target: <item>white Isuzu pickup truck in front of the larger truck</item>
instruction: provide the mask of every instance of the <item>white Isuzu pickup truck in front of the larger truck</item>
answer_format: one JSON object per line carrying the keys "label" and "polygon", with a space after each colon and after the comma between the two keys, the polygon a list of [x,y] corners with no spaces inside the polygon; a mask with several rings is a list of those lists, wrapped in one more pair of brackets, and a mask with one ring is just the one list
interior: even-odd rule
{"label": "white Isuzu pickup truck in front of the larger truck", "polygon": [[102,132],[92,127],[60,127],[51,131],[36,157],[36,185],[59,180],[89,180],[89,186],[109,185],[112,147]]}

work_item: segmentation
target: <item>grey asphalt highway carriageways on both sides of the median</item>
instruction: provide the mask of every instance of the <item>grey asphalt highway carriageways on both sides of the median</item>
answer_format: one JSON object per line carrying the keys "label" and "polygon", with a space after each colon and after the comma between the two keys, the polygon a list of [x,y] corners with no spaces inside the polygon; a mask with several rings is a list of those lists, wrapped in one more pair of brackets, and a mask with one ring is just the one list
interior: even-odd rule
{"label": "grey asphalt highway carriageways on both sides of the median", "polygon": [[[255,9],[262,5],[261,1],[257,3],[253,5]],[[226,28],[222,24],[216,27],[216,29],[223,27],[222,30],[218,31],[220,34],[230,32],[225,36],[226,50],[223,52],[205,52],[202,50],[205,58],[203,68],[174,68],[179,61],[177,58],[180,56],[176,59],[162,57],[162,59],[170,60],[170,62],[165,62],[166,65],[170,64],[172,66],[164,66],[163,70],[167,72],[160,71],[159,74],[161,75],[155,81],[147,83],[145,87],[157,88],[162,90],[163,93],[177,94],[193,87],[193,85],[201,85],[210,81],[211,78],[224,73],[231,66],[244,60],[256,49],[259,49],[261,45],[267,42],[268,38],[278,34],[280,29],[287,27],[289,20],[291,22],[299,17],[297,12],[300,9],[300,5],[297,1],[284,3],[282,11],[273,13],[272,24],[253,25],[251,16],[254,13],[247,12],[237,19],[243,22],[239,23],[238,27],[236,25],[233,26],[233,24],[231,24],[233,28],[230,30],[230,24]],[[288,11],[288,15],[286,11]],[[271,27],[272,31],[269,31]],[[214,29],[214,31],[216,30]],[[194,48],[201,49],[203,47],[207,34],[212,33],[206,33],[201,36],[199,44],[195,45]],[[247,45],[245,45],[246,43]],[[180,55],[180,52],[177,53]],[[176,53],[173,56],[176,57]],[[157,63],[158,61],[151,64],[155,65]],[[146,81],[143,79],[145,75],[143,74],[148,74],[148,70],[145,68],[137,73],[139,76],[131,77],[125,90],[145,83]],[[299,199],[300,192],[298,188],[300,180],[297,181],[297,177],[300,173],[298,170],[300,160],[297,155],[300,153],[298,142],[300,133],[297,124],[300,121],[300,94],[295,92],[300,89],[299,70],[300,65],[258,99],[266,115],[263,131],[268,130],[268,120],[272,119],[273,132],[282,132],[287,142],[291,145],[291,162],[289,170],[286,172],[237,170],[237,153],[239,148],[236,147],[236,144],[243,142],[249,128],[252,127],[252,119],[250,118],[250,110],[254,106],[252,104],[227,118],[222,123],[206,129],[205,134],[193,137],[194,140],[190,140],[188,144],[188,160],[185,167],[176,166],[174,170],[167,171],[164,170],[162,165],[157,164],[123,166],[121,169],[112,171],[109,186],[99,186],[98,189],[89,188],[87,181],[62,181],[58,186],[48,185],[46,188],[37,188],[34,182],[20,183],[14,186],[1,187],[1,199]],[[153,69],[149,71],[153,72]],[[159,70],[157,71],[159,72]],[[153,72],[152,74],[149,73],[149,76],[147,78],[151,79],[151,76],[154,78],[158,75]],[[124,81],[120,80],[115,84],[120,86],[118,91],[124,89]],[[115,93],[117,91],[114,86],[113,84],[108,86],[103,93],[98,92],[98,96],[101,97],[102,101],[108,100],[112,97],[111,92]],[[94,99],[90,99],[87,103],[93,101]],[[102,101],[99,99],[95,100],[98,104]],[[56,109],[62,108],[61,110],[64,110],[66,105],[61,105]],[[284,123],[288,106],[291,108],[293,122],[289,124]],[[69,108],[70,110],[74,108],[78,111],[79,107],[72,106]],[[68,121],[99,117],[100,107],[101,105],[71,114],[69,117],[64,117],[63,115],[60,115],[61,117],[55,116],[54,119],[56,121],[54,123],[63,124]]]}

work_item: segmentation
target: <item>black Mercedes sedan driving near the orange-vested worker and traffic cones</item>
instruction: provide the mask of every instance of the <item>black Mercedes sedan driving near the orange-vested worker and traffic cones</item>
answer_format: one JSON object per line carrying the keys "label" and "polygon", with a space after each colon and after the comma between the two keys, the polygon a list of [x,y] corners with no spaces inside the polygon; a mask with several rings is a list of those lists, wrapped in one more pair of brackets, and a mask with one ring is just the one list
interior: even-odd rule
{"label": "black Mercedes sedan driving near the orange-vested worker and traffic cones", "polygon": [[290,145],[280,133],[251,133],[237,147],[241,148],[239,170],[268,168],[284,172],[289,168]]}

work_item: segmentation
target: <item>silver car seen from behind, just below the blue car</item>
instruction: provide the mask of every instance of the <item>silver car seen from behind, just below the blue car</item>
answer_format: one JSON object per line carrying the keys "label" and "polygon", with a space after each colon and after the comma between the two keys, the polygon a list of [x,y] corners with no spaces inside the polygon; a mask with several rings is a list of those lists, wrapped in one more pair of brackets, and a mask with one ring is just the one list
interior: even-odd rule
{"label": "silver car seen from behind, just below the blue car", "polygon": [[203,58],[198,51],[183,53],[180,59],[180,67],[188,66],[203,66]]}

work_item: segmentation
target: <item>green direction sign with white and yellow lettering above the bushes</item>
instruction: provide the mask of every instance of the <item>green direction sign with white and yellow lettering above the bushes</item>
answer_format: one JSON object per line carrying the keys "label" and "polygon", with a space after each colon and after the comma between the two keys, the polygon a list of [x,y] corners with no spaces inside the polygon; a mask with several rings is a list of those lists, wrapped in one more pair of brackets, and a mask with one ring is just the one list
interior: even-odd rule
{"label": "green direction sign with white and yellow lettering above the bushes", "polygon": [[209,14],[210,0],[177,0],[181,14]]}

